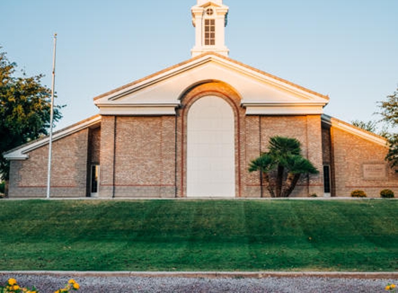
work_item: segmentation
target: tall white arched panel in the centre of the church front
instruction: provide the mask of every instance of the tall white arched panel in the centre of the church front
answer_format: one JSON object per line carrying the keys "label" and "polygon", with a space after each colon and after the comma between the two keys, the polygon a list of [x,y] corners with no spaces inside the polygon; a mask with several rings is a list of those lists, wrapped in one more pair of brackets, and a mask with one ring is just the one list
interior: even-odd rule
{"label": "tall white arched panel in the centre of the church front", "polygon": [[235,123],[229,103],[203,97],[188,112],[187,196],[235,196]]}

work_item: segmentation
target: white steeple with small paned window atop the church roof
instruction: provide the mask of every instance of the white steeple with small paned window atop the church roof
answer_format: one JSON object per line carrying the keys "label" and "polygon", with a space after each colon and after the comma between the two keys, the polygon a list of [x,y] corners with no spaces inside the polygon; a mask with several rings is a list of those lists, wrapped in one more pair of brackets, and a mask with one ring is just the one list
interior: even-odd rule
{"label": "white steeple with small paned window atop the church roof", "polygon": [[191,50],[192,57],[210,51],[228,56],[225,26],[229,7],[223,5],[222,0],[197,0],[197,5],[191,10],[196,35],[195,46]]}

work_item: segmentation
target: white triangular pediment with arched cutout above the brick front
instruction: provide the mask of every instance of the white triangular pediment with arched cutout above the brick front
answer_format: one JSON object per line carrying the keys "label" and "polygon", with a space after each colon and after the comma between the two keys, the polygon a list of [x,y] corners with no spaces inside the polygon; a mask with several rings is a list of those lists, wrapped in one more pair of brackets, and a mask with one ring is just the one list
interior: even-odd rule
{"label": "white triangular pediment with arched cutout above the brick front", "polygon": [[94,99],[102,115],[174,115],[183,94],[222,81],[242,98],[247,115],[322,114],[329,98],[218,54],[208,53]]}

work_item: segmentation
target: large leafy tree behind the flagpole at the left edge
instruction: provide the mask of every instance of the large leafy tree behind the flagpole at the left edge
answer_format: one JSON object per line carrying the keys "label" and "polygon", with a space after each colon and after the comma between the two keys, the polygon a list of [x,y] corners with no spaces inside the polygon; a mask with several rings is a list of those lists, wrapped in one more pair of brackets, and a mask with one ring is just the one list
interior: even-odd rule
{"label": "large leafy tree behind the flagpole at the left edge", "polygon": [[[1,50],[1,47],[0,47]],[[0,51],[0,177],[8,180],[9,165],[3,152],[48,134],[51,90],[41,85],[42,74],[15,76],[17,64]],[[54,109],[58,121],[60,107]]]}

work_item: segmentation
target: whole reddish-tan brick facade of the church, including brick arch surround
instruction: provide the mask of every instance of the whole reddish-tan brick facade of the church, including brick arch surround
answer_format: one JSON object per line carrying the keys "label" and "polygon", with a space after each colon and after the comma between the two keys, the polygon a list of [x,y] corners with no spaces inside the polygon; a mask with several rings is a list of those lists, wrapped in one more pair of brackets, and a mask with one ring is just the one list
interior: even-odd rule
{"label": "whole reddish-tan brick facade of the church, including brick arch surround", "polygon": [[[306,89],[297,86],[297,90]],[[91,196],[91,168],[99,165],[99,192],[95,195],[100,198],[187,197],[188,115],[193,103],[208,96],[223,99],[233,112],[236,197],[270,196],[260,185],[260,174],[249,173],[248,166],[267,151],[268,141],[275,135],[297,138],[303,156],[320,171],[302,177],[292,196],[324,196],[324,166],[330,173],[327,195],[349,196],[356,189],[372,197],[385,188],[398,192],[398,174],[384,160],[388,148],[381,137],[326,115],[292,114],[294,110],[288,115],[249,115],[247,107],[251,104],[243,102],[238,90],[212,80],[195,83],[181,92],[178,101],[173,101],[173,105],[179,105],[175,112],[102,115],[61,131],[63,135],[58,135],[53,144],[51,196]],[[135,110],[148,106],[142,103]],[[10,197],[45,196],[48,144],[44,140],[22,146],[22,151],[13,150]]]}

